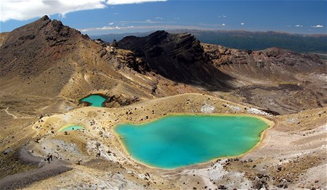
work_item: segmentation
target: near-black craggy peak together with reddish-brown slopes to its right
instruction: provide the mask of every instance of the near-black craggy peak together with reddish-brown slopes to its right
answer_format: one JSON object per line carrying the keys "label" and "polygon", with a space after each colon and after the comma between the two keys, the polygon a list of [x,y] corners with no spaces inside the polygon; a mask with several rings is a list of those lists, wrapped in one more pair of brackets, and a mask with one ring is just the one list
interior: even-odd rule
{"label": "near-black craggy peak together with reddish-brown slopes to its right", "polygon": [[280,48],[240,51],[199,43],[188,33],[166,31],[127,36],[117,46],[133,51],[165,78],[210,91],[232,92],[264,110],[284,114],[327,102],[323,84],[326,61],[315,54]]}

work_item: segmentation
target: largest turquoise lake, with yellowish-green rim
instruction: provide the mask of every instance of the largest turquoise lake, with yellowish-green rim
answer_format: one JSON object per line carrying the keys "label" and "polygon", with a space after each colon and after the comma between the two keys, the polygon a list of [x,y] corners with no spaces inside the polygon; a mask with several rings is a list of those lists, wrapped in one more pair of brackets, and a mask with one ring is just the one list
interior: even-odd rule
{"label": "largest turquoise lake, with yellowish-green rim", "polygon": [[117,125],[114,130],[137,161],[174,169],[244,154],[268,127],[250,116],[171,115],[144,125]]}

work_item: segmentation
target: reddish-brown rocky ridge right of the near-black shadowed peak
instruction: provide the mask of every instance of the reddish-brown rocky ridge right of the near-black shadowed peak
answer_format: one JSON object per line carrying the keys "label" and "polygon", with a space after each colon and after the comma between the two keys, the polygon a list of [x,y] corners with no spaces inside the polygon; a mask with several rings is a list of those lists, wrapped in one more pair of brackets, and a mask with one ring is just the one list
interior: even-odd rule
{"label": "reddish-brown rocky ridge right of the near-black shadowed peak", "polygon": [[[242,80],[298,81],[299,73],[326,70],[326,63],[315,54],[301,54],[281,48],[244,51],[202,44],[213,64],[224,73]],[[300,79],[301,80],[301,79]]]}

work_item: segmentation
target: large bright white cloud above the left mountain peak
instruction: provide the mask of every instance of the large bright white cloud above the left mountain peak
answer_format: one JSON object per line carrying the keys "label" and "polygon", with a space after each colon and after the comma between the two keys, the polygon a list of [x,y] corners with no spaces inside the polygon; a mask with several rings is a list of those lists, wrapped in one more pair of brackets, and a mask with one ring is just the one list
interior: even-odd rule
{"label": "large bright white cloud above the left mountain peak", "polygon": [[36,17],[91,9],[104,9],[107,5],[137,4],[165,0],[24,0],[1,1],[0,21],[26,21]]}

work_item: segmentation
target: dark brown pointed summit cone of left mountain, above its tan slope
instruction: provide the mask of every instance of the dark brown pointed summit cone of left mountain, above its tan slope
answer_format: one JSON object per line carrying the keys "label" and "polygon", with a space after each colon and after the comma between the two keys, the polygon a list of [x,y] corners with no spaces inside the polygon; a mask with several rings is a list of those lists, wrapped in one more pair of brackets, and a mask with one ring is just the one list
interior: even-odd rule
{"label": "dark brown pointed summit cone of left mountain, above its tan slope", "polygon": [[74,51],[78,41],[90,40],[79,31],[51,21],[48,16],[16,28],[0,47],[0,76],[21,78],[40,75],[65,54]]}

